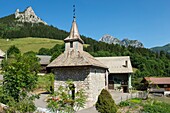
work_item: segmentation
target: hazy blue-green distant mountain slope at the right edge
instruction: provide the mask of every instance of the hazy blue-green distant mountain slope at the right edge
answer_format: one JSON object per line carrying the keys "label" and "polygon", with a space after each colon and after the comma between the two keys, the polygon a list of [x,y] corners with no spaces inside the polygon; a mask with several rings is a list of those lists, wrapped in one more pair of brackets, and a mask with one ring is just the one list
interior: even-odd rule
{"label": "hazy blue-green distant mountain slope at the right edge", "polygon": [[164,46],[160,46],[160,47],[153,47],[151,48],[151,50],[155,52],[165,51],[170,54],[170,43]]}

